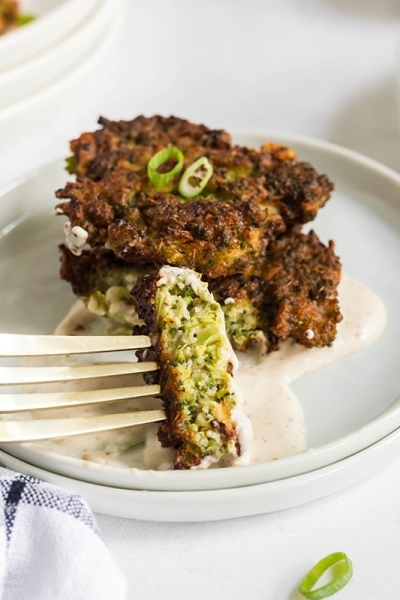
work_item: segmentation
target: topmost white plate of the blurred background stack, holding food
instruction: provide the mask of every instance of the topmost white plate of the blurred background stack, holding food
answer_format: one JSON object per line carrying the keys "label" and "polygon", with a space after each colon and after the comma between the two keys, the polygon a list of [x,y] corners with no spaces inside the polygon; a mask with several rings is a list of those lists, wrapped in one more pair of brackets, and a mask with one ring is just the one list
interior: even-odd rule
{"label": "topmost white plate of the blurred background stack, holding food", "polygon": [[[24,61],[68,36],[102,0],[22,0],[21,13],[35,16],[29,27],[0,37],[0,72]],[[90,18],[90,17],[89,17]]]}

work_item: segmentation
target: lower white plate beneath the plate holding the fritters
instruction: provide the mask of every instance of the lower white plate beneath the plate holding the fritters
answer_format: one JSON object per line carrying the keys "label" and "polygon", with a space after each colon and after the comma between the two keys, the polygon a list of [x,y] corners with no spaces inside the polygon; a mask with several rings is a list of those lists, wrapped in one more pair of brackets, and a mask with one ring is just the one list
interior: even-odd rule
{"label": "lower white plate beneath the plate holding the fritters", "polygon": [[293,508],[338,492],[371,475],[400,451],[400,429],[342,461],[280,481],[193,492],[125,490],[63,477],[0,451],[0,464],[63,487],[97,513],[144,521],[217,521]]}

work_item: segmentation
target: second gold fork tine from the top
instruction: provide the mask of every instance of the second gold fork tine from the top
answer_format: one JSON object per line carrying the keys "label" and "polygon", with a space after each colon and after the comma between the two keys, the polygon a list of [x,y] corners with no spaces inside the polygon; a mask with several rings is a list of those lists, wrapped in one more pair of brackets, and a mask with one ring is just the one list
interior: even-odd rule
{"label": "second gold fork tine from the top", "polygon": [[156,371],[158,368],[155,362],[117,362],[74,367],[0,367],[0,385],[50,383],[112,375],[132,375]]}

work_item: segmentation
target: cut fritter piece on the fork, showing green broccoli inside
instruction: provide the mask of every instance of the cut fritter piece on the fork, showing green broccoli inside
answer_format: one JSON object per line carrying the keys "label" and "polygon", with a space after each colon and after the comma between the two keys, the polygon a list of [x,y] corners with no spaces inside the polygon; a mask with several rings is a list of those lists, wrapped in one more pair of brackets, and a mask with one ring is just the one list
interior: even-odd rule
{"label": "cut fritter piece on the fork, showing green broccoli inside", "polygon": [[[175,469],[206,468],[244,454],[251,433],[233,380],[236,358],[220,306],[200,275],[163,267],[132,290],[153,347],[139,359],[156,360],[166,421],[163,446],[176,450]],[[150,374],[149,374],[150,375]]]}

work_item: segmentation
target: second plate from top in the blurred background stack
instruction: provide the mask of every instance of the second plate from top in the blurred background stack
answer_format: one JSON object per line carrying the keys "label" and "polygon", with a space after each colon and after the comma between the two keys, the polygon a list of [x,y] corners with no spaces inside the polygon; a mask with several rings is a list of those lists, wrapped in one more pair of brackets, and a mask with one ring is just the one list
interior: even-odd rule
{"label": "second plate from top in the blurred background stack", "polygon": [[[79,9],[78,9],[79,12]],[[115,12],[112,0],[92,7],[85,19],[48,50],[44,48],[31,59],[0,73],[0,109],[29,97],[79,61],[112,23]],[[34,27],[34,24],[32,24]]]}

